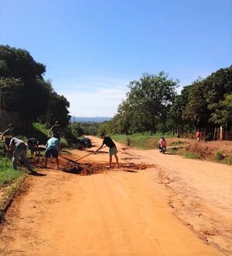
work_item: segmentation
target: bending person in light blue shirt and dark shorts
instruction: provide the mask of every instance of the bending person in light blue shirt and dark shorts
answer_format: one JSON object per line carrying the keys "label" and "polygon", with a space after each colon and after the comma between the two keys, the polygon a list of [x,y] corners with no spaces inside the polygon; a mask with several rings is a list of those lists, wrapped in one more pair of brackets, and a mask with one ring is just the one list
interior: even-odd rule
{"label": "bending person in light blue shirt and dark shorts", "polygon": [[58,169],[60,169],[59,166],[59,158],[58,155],[60,154],[60,140],[56,137],[50,138],[46,143],[46,151],[45,151],[45,168],[47,168],[47,160],[48,157],[54,157],[56,158],[56,164]]}

